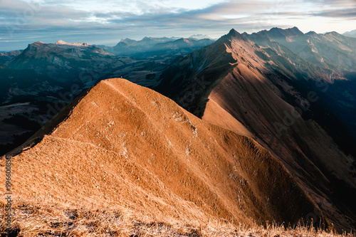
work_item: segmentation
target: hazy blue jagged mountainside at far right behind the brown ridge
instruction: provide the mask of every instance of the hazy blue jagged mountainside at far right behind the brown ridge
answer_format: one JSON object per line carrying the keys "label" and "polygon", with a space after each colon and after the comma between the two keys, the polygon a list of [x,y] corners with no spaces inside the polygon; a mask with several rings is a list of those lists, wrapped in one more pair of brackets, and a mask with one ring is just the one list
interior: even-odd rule
{"label": "hazy blue jagged mountainside at far right behind the brown ridge", "polygon": [[[270,31],[260,31],[251,35],[244,33],[244,36],[257,43],[258,46],[263,47],[264,51],[270,51],[270,48],[272,48],[278,55],[298,65],[297,70],[288,68],[293,74],[298,75],[300,74],[298,70],[303,70],[303,73],[307,75],[305,78],[328,80],[330,82],[327,89],[328,92],[319,93],[318,97],[321,99],[317,103],[318,106],[328,110],[325,113],[333,113],[333,117],[328,116],[326,119],[324,116],[319,116],[313,119],[320,124],[328,124],[329,127],[333,127],[332,123],[335,122],[331,121],[335,121],[335,117],[337,117],[337,120],[341,120],[347,127],[342,129],[343,133],[348,130],[355,140],[356,112],[354,111],[356,111],[356,100],[349,96],[349,93],[352,95],[352,91],[355,90],[356,39],[342,36],[336,32],[318,34],[313,31],[305,35],[303,33],[294,34],[297,36],[288,38],[288,36],[293,35],[290,30],[273,28]],[[275,31],[278,31],[278,36]],[[286,65],[286,63],[277,64],[273,67],[273,70],[281,71],[283,65]],[[315,72],[319,72],[319,75]],[[288,77],[293,78],[294,76],[288,75]],[[293,81],[290,83],[293,83]],[[298,90],[305,90],[303,88],[318,90],[315,85],[293,84],[298,87]],[[338,125],[337,127],[341,126]],[[328,130],[328,132],[335,133],[336,130],[339,130],[337,127]],[[340,135],[337,136],[340,137]],[[338,143],[340,145],[340,143],[347,142]]]}

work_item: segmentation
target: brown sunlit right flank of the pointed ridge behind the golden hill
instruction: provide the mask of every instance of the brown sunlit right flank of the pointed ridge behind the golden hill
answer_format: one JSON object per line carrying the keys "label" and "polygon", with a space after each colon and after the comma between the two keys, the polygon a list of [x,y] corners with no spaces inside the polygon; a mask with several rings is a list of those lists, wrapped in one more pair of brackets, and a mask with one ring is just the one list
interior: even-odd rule
{"label": "brown sunlit right flank of the pointed ridge behind the golden hill", "polygon": [[[340,183],[345,182],[343,189],[350,190],[350,193],[356,189],[356,177],[352,175],[350,166],[355,157],[342,152],[323,127],[300,116],[296,111],[300,107],[294,107],[291,99],[286,100],[291,96],[301,104],[310,103],[307,97],[295,94],[299,89],[289,83],[281,83],[278,77],[261,73],[268,74],[266,62],[256,56],[258,48],[253,43],[232,38],[226,41],[226,52],[223,55],[234,57],[236,65],[212,88],[202,119],[255,139],[283,163],[338,230],[355,228],[356,216],[352,211],[352,202],[355,201],[344,199],[345,195],[338,196],[340,191],[335,191],[338,185],[330,185],[333,180],[340,180]],[[283,92],[289,95],[283,95]],[[302,113],[308,112],[303,110]],[[279,130],[278,126],[283,129]],[[334,192],[335,197],[330,196]]]}

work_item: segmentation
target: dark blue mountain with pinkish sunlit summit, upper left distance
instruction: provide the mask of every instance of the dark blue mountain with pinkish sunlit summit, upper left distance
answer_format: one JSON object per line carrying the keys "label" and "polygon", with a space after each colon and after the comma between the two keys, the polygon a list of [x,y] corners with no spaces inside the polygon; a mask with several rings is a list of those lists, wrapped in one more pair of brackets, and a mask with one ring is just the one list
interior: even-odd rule
{"label": "dark blue mountain with pinkish sunlit summit, upper left distance", "polygon": [[33,69],[38,74],[48,75],[62,82],[73,82],[80,79],[80,75],[90,73],[91,80],[83,82],[90,87],[103,73],[110,73],[112,68],[131,61],[128,58],[113,56],[103,48],[86,43],[39,41],[28,45],[19,56],[8,63],[8,66],[16,70]]}

